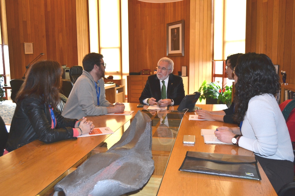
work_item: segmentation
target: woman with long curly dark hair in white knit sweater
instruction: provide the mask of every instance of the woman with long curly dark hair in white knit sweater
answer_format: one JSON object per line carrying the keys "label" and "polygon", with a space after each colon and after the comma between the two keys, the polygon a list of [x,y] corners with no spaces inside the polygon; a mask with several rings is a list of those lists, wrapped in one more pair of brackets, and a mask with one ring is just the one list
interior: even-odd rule
{"label": "woman with long curly dark hair in white knit sweater", "polygon": [[217,139],[253,151],[276,192],[293,182],[294,154],[288,128],[274,97],[280,88],[265,54],[247,53],[234,69],[235,120],[240,128],[219,127]]}

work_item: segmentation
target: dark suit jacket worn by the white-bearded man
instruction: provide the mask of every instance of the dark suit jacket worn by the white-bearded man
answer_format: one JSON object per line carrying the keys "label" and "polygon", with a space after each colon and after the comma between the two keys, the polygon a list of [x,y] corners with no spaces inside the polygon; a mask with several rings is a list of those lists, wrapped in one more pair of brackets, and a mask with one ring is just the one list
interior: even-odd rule
{"label": "dark suit jacket worn by the white-bearded man", "polygon": [[[182,78],[171,73],[169,75],[167,86],[167,99],[173,99],[174,105],[179,105],[184,96]],[[157,102],[161,99],[160,80],[158,79],[157,74],[148,77],[139,101],[143,104],[143,100],[152,97],[155,98]]]}

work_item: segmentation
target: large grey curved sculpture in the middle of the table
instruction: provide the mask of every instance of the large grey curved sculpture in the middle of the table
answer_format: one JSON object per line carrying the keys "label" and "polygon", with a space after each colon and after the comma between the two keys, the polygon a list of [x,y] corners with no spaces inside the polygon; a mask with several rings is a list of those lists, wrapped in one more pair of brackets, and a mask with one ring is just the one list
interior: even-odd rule
{"label": "large grey curved sculpture in the middle of the table", "polygon": [[[138,111],[121,139],[106,153],[91,156],[55,185],[60,195],[122,195],[143,187],[155,166],[150,117]],[[61,191],[61,192],[59,192]]]}

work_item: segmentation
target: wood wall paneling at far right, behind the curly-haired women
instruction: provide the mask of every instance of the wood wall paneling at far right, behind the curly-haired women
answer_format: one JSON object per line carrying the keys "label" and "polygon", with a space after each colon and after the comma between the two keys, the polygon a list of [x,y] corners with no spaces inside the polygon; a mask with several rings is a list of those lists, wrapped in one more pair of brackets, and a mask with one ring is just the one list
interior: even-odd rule
{"label": "wood wall paneling at far right, behind the curly-haired women", "polygon": [[287,83],[295,83],[294,12],[294,0],[247,1],[246,52],[266,53],[287,72]]}

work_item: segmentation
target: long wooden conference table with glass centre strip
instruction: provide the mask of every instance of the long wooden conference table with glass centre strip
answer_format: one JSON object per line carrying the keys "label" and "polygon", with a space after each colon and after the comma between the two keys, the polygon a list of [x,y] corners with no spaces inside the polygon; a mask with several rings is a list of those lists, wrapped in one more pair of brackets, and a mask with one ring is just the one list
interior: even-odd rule
{"label": "long wooden conference table with glass centre strip", "polygon": [[[0,195],[27,196],[52,193],[53,186],[89,156],[105,152],[120,139],[136,112],[147,108],[146,105],[144,108],[137,108],[136,105],[125,103],[125,110],[134,110],[131,115],[87,117],[88,120],[94,122],[96,127],[109,127],[114,130],[115,133],[112,135],[82,137],[77,140],[64,140],[51,144],[35,140],[0,157]],[[226,106],[199,105],[199,107],[207,110],[221,110]],[[176,109],[177,106],[170,107],[170,110]],[[145,113],[151,117],[153,128],[152,154],[155,171],[151,179],[158,179],[158,184],[150,183],[150,179],[137,194],[150,189],[148,195],[156,195],[157,191],[158,195],[276,195],[259,164],[261,181],[178,171],[186,151],[253,155],[252,152],[234,145],[204,144],[203,137],[200,135],[201,128],[214,129],[222,125],[233,127],[234,124],[217,121],[189,121],[189,114],[193,113],[186,113],[181,121],[180,116],[183,113],[166,111],[164,112],[166,117],[172,118],[169,121],[169,129],[166,129],[160,125],[160,117],[163,113],[147,110]],[[183,145],[183,135],[196,135],[196,144]],[[148,186],[149,183],[152,185]],[[159,183],[161,183],[160,189]]]}

